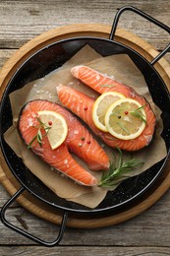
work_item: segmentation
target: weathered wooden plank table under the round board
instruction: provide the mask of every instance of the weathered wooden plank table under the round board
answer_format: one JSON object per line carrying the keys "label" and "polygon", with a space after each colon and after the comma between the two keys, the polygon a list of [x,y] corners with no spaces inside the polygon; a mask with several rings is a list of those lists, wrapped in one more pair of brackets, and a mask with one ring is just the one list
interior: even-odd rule
{"label": "weathered wooden plank table under the round board", "polygon": [[[168,0],[130,1],[130,4],[170,26]],[[125,5],[127,1],[123,0],[1,0],[0,67],[24,43],[42,32],[71,24],[111,26],[117,8]],[[119,26],[141,35],[157,50],[169,42],[167,33],[135,14],[124,15]],[[168,54],[165,58],[170,62]],[[8,199],[9,194],[0,185],[0,208]],[[92,229],[68,227],[59,247],[52,248],[35,244],[0,223],[0,255],[170,255],[169,212],[168,191],[154,206],[123,224]],[[10,207],[8,219],[45,240],[53,240],[57,235],[55,224],[36,218],[18,203]]]}

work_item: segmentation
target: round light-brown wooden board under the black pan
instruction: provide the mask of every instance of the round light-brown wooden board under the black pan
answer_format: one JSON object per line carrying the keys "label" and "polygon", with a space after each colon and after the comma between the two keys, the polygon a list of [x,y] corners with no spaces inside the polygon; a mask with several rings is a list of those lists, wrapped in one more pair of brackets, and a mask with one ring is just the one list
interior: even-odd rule
{"label": "round light-brown wooden board under the black pan", "polygon": [[[23,47],[21,47],[1,69],[0,96],[3,95],[3,92],[16,69],[28,58],[28,56],[30,56],[36,50],[47,45],[48,43],[74,36],[92,35],[108,38],[110,30],[110,26],[106,25],[80,24],[60,27],[36,36],[35,38],[28,41],[28,43],[26,43]],[[150,44],[142,40],[141,37],[122,29],[117,30],[115,40],[134,48],[139,53],[141,53],[142,56],[145,57],[147,60],[151,60],[158,54],[158,52]],[[169,63],[162,58],[158,63],[156,63],[155,68],[166,83],[168,89],[170,90]],[[21,187],[21,184],[17,181],[17,179],[10,171],[6,161],[3,158],[2,152],[0,152],[0,163],[0,182],[9,192],[9,194],[13,195]],[[141,202],[132,206],[130,209],[114,215],[108,214],[107,216],[80,216],[77,214],[70,214],[67,226],[79,228],[96,228],[108,226],[111,224],[120,224],[138,216],[144,210],[152,206],[168,190],[170,186],[169,168],[170,164],[168,162],[168,165],[166,167],[166,175],[161,178],[159,184],[157,184],[157,187],[155,187],[151,193],[147,194],[147,196],[145,196]],[[30,195],[28,191],[25,191],[24,194],[21,195],[17,201],[30,213],[39,218],[53,224],[61,223],[62,212],[38,200],[34,196]]]}

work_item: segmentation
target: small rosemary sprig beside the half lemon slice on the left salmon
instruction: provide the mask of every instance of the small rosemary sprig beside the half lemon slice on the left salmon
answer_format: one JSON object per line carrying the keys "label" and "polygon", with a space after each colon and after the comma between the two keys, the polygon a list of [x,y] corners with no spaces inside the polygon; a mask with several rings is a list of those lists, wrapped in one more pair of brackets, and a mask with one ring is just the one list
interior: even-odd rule
{"label": "small rosemary sprig beside the half lemon slice on the left salmon", "polygon": [[[39,122],[39,124],[37,126],[34,126],[35,128],[37,128],[37,133],[36,135],[32,138],[32,140],[29,142],[28,144],[28,149],[30,149],[33,146],[33,142],[35,142],[35,140],[38,142],[39,146],[42,147],[42,138],[44,136],[47,135],[47,133],[49,132],[49,130],[51,129],[50,126],[44,124],[38,117],[37,121]],[[45,134],[42,135],[41,129],[45,130]]]}

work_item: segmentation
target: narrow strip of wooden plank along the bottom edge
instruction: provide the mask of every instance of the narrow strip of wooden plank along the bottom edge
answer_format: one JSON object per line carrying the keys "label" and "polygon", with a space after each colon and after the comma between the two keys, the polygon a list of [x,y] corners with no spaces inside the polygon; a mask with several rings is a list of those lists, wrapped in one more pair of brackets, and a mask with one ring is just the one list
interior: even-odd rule
{"label": "narrow strip of wooden plank along the bottom edge", "polygon": [[42,248],[35,246],[13,246],[13,247],[0,247],[1,255],[22,255],[27,256],[31,252],[31,256],[43,255],[64,255],[64,256],[89,256],[93,253],[97,253],[100,256],[134,256],[134,255],[146,255],[146,256],[165,256],[170,254],[170,249],[166,247],[85,247],[85,246],[74,246],[66,247],[59,246],[53,248]]}

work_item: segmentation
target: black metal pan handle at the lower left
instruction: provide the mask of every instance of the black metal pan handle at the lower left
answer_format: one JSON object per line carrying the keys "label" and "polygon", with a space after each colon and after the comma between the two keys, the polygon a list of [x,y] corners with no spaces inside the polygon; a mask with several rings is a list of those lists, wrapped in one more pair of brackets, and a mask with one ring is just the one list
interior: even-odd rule
{"label": "black metal pan handle at the lower left", "polygon": [[58,234],[58,237],[57,239],[55,239],[54,241],[52,242],[48,242],[48,241],[44,241],[30,233],[28,233],[27,231],[19,228],[18,226],[15,226],[14,224],[10,224],[7,220],[6,220],[6,217],[5,217],[5,213],[6,213],[6,210],[8,209],[8,207],[25,191],[25,187],[21,187],[13,196],[12,198],[9,199],[9,201],[7,201],[7,203],[2,207],[1,209],[1,212],[0,212],[0,218],[1,218],[1,222],[3,224],[5,224],[6,226],[8,226],[9,228],[23,234],[24,236],[28,237],[29,239],[37,242],[37,243],[40,243],[42,245],[45,245],[45,246],[48,246],[48,247],[52,247],[54,245],[57,245],[59,244],[59,242],[61,241],[62,237],[63,237],[63,233],[64,233],[64,230],[65,230],[65,226],[66,226],[66,221],[67,221],[67,217],[68,217],[68,212],[67,211],[64,211],[64,214],[63,214],[63,219],[62,219],[62,223],[60,225],[60,229],[59,229],[59,234]]}

